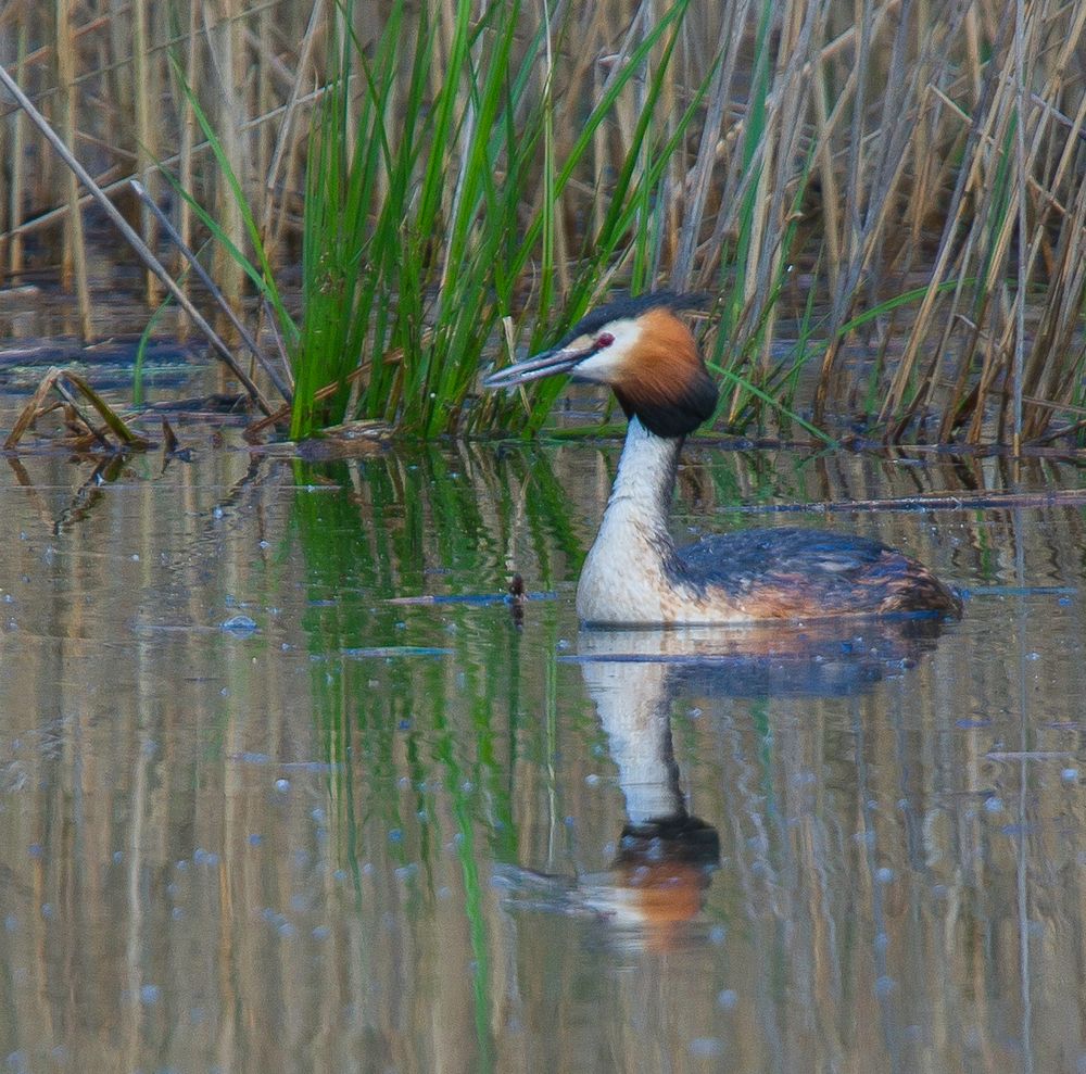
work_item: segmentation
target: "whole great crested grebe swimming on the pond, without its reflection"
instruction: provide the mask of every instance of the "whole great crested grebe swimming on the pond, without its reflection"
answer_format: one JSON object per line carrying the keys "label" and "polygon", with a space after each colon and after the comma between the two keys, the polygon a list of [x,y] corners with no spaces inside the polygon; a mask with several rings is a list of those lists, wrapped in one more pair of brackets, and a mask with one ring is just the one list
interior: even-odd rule
{"label": "whole great crested grebe swimming on the pond, without its reflection", "polygon": [[607,384],[629,429],[599,532],[577,586],[586,623],[657,626],[961,614],[923,564],[867,538],[792,527],[677,548],[668,531],[679,453],[712,416],[717,388],[677,314],[697,295],[657,291],[583,317],[556,346],[491,374],[490,389],[555,374]]}

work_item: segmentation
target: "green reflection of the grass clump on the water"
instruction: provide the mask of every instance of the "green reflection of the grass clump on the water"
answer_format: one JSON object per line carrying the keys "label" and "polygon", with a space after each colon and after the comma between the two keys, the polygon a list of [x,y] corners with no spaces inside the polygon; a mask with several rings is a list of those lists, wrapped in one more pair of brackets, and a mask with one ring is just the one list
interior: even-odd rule
{"label": "green reflection of the grass clump on the water", "polygon": [[[301,621],[336,852],[359,910],[367,864],[406,879],[405,919],[419,944],[455,861],[475,1062],[487,1070],[494,974],[481,865],[516,859],[522,753],[553,774],[556,748],[553,729],[525,711],[522,631],[502,597],[510,569],[533,590],[576,574],[583,548],[568,497],[548,455],[530,447],[298,463],[293,476],[288,547],[304,563]],[[392,603],[424,594],[459,599]],[[553,677],[557,607],[541,601],[531,612]]]}

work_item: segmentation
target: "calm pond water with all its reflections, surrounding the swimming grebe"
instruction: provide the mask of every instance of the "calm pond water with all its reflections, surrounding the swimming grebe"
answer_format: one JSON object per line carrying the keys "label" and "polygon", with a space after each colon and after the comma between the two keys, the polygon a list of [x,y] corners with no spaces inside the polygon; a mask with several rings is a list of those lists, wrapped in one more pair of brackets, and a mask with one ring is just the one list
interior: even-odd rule
{"label": "calm pond water with all its reflections, surrounding the swimming grebe", "polygon": [[0,464],[0,1069],[1086,1066],[1077,468],[693,448],[965,617],[606,632],[617,444],[181,435]]}

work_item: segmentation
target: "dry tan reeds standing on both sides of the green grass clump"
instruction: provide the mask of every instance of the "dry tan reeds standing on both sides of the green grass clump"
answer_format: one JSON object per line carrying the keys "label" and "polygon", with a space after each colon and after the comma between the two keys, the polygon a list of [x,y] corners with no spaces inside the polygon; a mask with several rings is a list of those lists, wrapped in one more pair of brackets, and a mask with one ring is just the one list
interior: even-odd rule
{"label": "dry tan reeds standing on both sides of the green grass clump", "polygon": [[[389,2],[357,5],[364,45]],[[456,2],[440,5],[445,27]],[[658,0],[526,0],[525,47],[544,21],[555,27],[553,67],[539,76],[541,92],[552,79],[555,160],[623,42],[664,10]],[[161,159],[245,250],[198,102],[283,268],[298,258],[310,109],[334,11],[324,0],[14,3],[0,13],[0,62],[106,190],[141,177],[198,247],[187,203],[155,178]],[[736,386],[732,420],[746,386],[779,392],[780,355],[798,339],[796,361],[811,372],[793,405],[826,428],[859,419],[891,439],[1019,445],[1081,421],[1084,31],[1086,7],[1058,0],[691,7],[648,137],[665,139],[706,79],[708,91],[654,207],[652,278],[641,282],[721,293],[727,338],[709,346]],[[442,73],[432,78],[440,85]],[[564,192],[559,286],[637,137],[644,85],[627,87]],[[87,239],[72,180],[17,110],[0,103],[0,125],[10,162],[0,274],[15,279],[63,253],[83,287]],[[534,197],[544,195],[541,181]],[[619,251],[615,282],[630,265]],[[232,304],[243,301],[236,260],[219,252],[213,275]],[[911,304],[895,301],[915,289]],[[857,343],[874,359],[856,361]]]}

